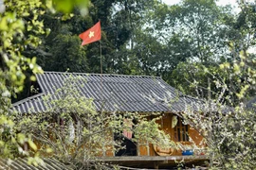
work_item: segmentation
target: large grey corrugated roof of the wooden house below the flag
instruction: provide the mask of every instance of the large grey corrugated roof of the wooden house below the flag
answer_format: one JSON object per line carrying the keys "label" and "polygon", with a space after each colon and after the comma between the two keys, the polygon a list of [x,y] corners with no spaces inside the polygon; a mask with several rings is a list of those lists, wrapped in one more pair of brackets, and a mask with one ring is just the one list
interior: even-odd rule
{"label": "large grey corrugated roof of the wooden house below the flag", "polygon": [[70,75],[86,78],[86,82],[78,81],[77,86],[83,96],[94,99],[97,110],[180,112],[188,108],[198,110],[203,103],[177,91],[159,76],[45,72],[36,75],[42,93],[14,103],[13,108],[19,112],[46,111],[43,96],[62,87]]}

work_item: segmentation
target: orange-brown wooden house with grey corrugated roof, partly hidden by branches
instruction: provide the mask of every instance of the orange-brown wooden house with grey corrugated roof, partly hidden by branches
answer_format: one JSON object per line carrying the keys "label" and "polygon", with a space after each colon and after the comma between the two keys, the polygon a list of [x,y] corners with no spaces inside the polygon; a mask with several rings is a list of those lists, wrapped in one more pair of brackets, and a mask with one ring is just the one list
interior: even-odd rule
{"label": "orange-brown wooden house with grey corrugated roof, partly hidden by branches", "polygon": [[[187,110],[204,111],[204,102],[177,91],[158,76],[45,72],[36,75],[37,84],[34,86],[39,93],[14,103],[13,109],[20,113],[46,111],[43,96],[62,87],[64,79],[70,75],[86,78],[86,82],[81,81],[82,84],[78,86],[82,95],[94,99],[96,110],[119,113],[129,111],[148,115],[160,112],[162,118],[157,123],[174,142],[190,145],[190,136],[193,143],[201,147],[203,137],[190,125],[184,125],[180,115]],[[128,143],[126,149],[133,149],[129,155],[102,151],[104,153],[99,161],[147,168],[170,167],[176,165],[176,161],[192,164],[208,161],[203,153],[184,156],[181,150],[163,149],[146,142],[137,145]]]}

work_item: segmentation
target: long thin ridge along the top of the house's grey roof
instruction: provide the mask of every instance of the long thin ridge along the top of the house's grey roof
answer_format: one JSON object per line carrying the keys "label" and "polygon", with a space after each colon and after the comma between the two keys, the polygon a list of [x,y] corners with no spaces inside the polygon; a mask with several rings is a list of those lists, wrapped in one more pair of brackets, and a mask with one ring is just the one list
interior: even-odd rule
{"label": "long thin ridge along the top of the house's grey roof", "polygon": [[67,74],[67,75],[88,75],[88,76],[130,76],[130,77],[150,77],[150,78],[160,78],[161,76],[136,76],[136,75],[119,75],[119,74],[95,74],[95,73],[77,73],[77,72],[54,72],[54,71],[44,71],[44,74]]}

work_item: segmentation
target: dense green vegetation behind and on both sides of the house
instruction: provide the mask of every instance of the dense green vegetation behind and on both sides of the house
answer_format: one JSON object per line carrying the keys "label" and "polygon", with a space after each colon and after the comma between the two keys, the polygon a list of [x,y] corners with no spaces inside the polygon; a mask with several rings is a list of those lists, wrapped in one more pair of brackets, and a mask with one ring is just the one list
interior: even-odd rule
{"label": "dense green vegetation behind and on both sides of the house", "polygon": [[[253,4],[238,3],[236,14],[214,0],[183,0],[174,6],[155,0],[5,1],[0,125],[12,136],[3,140],[2,135],[1,155],[14,157],[13,149],[23,141],[33,147],[28,135],[11,133],[9,116],[10,98],[27,97],[33,74],[101,73],[102,55],[103,73],[162,76],[184,93],[234,107],[232,114],[189,115],[188,121],[209,132],[204,135],[210,139],[213,167],[255,167],[255,115],[243,106],[255,95],[256,11]],[[78,35],[99,20],[101,48],[100,42],[81,46]]]}

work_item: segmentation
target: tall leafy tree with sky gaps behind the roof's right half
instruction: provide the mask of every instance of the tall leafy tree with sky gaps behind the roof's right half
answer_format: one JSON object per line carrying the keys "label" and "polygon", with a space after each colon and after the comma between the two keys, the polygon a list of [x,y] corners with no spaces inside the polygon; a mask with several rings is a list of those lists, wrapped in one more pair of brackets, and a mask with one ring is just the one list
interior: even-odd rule
{"label": "tall leafy tree with sky gaps behind the roof's right half", "polygon": [[235,20],[229,7],[214,1],[182,1],[171,7],[155,2],[152,7],[141,27],[134,27],[131,42],[118,51],[128,55],[120,59],[133,66],[128,73],[163,76],[174,85],[171,75],[179,62],[198,61],[208,67],[231,59],[228,40],[235,37]]}

